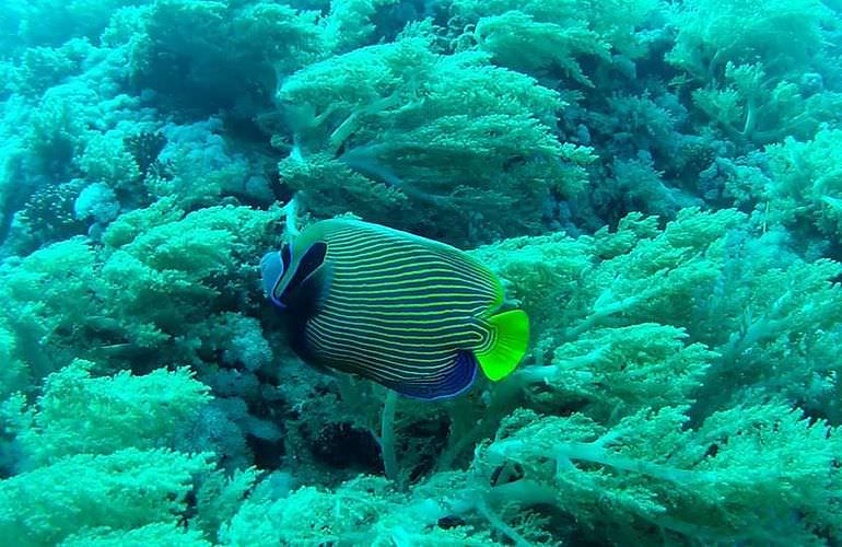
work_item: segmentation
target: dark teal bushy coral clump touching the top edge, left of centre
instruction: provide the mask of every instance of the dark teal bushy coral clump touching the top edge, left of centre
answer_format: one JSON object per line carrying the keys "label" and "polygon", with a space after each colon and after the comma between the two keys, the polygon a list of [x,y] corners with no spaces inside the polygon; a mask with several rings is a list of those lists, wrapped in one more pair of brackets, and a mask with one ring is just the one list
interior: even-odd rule
{"label": "dark teal bushy coral clump touching the top edge, left of centre", "polygon": [[166,0],[139,16],[132,80],[209,113],[253,116],[269,103],[277,73],[314,60],[323,47],[317,13],[285,3]]}

